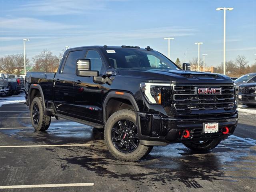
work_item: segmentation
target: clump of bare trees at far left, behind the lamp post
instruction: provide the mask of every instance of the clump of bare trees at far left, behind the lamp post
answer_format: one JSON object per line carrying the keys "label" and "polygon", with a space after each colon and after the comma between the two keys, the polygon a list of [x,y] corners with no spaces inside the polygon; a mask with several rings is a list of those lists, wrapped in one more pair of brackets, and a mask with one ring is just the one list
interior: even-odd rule
{"label": "clump of bare trees at far left, behind the lamp post", "polygon": [[[29,59],[26,58],[26,67],[29,67]],[[24,72],[24,55],[12,54],[0,58],[0,71],[7,74],[22,74]]]}

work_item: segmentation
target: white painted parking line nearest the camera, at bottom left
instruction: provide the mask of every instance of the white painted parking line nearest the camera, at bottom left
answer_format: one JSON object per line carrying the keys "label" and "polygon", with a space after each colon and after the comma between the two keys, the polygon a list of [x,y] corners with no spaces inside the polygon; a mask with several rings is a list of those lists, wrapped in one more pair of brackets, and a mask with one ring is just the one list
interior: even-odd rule
{"label": "white painted parking line nearest the camera, at bottom left", "polygon": [[77,186],[94,186],[94,183],[65,183],[65,184],[42,184],[42,185],[10,185],[0,186],[0,189],[16,188],[44,188],[44,187],[77,187]]}

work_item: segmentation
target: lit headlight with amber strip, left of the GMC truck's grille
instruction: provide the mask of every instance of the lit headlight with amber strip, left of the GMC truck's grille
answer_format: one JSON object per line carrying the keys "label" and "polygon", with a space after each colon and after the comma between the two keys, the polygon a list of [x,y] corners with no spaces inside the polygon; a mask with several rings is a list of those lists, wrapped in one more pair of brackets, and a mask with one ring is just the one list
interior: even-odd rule
{"label": "lit headlight with amber strip, left of the GMC truck's grille", "polygon": [[171,84],[142,82],[140,89],[148,103],[162,104],[162,88],[164,86],[171,86]]}

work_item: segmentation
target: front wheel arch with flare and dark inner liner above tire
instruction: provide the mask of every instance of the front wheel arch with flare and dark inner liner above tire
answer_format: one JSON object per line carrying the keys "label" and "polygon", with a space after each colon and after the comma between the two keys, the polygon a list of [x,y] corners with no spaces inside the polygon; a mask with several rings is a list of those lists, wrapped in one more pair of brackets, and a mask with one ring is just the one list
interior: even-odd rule
{"label": "front wheel arch with flare and dark inner liner above tire", "polygon": [[[130,103],[130,105],[133,107],[133,109],[135,111],[139,111],[138,104],[137,104],[134,96],[131,93],[121,92],[121,91],[110,91],[107,94],[107,96],[105,97],[104,102],[103,102],[102,111],[103,111],[103,122],[104,122],[104,125],[106,124],[106,121],[107,121],[107,118],[108,118],[107,117],[107,114],[108,114],[107,106],[108,106],[109,102],[111,102],[113,99],[117,100],[117,102],[125,103],[125,104],[128,104],[128,103],[125,102],[125,101],[127,101],[127,102]],[[122,104],[120,104],[120,106],[121,105]]]}

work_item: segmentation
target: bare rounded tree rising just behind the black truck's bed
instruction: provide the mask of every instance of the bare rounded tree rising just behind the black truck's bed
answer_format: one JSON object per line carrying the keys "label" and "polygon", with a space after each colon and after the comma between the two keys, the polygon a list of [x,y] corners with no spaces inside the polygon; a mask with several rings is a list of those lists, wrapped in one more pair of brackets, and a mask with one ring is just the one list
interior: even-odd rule
{"label": "bare rounded tree rising just behind the black truck's bed", "polygon": [[59,58],[47,49],[34,56],[33,61],[33,71],[42,72],[56,72],[60,63]]}

